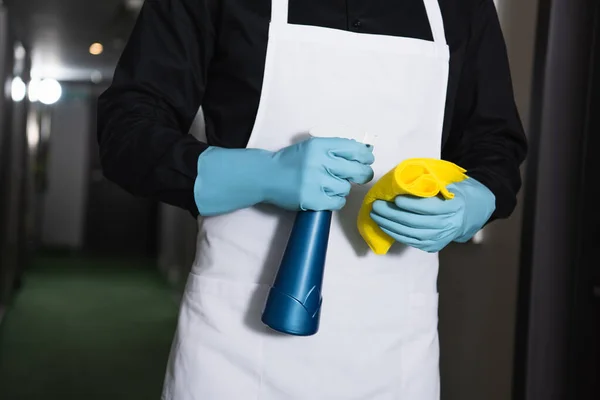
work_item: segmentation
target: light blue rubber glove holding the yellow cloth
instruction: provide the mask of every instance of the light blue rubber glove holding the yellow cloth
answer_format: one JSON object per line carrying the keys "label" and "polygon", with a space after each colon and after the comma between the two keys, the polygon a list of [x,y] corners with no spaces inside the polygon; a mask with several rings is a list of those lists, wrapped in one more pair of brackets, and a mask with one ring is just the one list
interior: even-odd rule
{"label": "light blue rubber glove holding the yellow cloth", "polygon": [[398,196],[373,203],[371,218],[396,241],[436,253],[450,242],[469,241],[490,219],[496,197],[473,178],[448,185],[454,199]]}

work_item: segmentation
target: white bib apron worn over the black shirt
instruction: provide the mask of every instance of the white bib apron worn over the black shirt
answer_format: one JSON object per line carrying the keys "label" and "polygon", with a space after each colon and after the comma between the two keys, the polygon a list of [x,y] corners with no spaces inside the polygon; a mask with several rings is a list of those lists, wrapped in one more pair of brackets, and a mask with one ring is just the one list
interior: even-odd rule
{"label": "white bib apron worn over the black shirt", "polygon": [[[272,0],[262,97],[248,147],[278,150],[313,127],[352,127],[374,145],[375,181],[411,157],[440,157],[449,50],[434,41],[287,23]],[[355,186],[334,213],[319,332],[260,320],[295,214],[260,205],[199,220],[165,400],[438,400],[438,256],[368,251]]]}

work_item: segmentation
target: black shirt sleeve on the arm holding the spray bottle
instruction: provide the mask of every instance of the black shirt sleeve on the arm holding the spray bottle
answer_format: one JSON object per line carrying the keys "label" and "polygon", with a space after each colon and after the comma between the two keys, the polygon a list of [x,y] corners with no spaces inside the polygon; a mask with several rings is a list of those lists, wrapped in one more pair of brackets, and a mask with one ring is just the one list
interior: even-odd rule
{"label": "black shirt sleeve on the arm holding the spray bottle", "polygon": [[210,1],[146,0],[112,85],[98,100],[105,176],[193,214],[196,162],[207,145],[188,131],[214,50]]}

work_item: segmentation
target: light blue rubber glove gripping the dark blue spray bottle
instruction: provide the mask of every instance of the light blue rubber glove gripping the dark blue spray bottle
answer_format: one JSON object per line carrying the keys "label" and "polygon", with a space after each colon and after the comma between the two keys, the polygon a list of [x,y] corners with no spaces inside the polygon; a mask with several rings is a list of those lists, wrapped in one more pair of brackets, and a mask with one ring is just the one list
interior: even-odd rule
{"label": "light blue rubber glove gripping the dark blue spray bottle", "polygon": [[311,138],[277,152],[210,147],[198,157],[194,199],[201,215],[258,203],[287,210],[339,210],[351,183],[373,179],[371,146]]}

